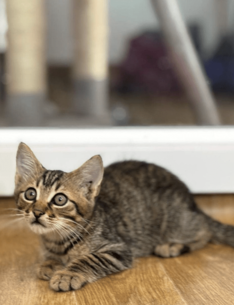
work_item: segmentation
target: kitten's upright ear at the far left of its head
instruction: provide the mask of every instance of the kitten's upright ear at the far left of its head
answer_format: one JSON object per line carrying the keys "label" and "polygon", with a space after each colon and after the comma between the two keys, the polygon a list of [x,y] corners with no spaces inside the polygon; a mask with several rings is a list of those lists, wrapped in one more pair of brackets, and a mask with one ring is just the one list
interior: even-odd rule
{"label": "kitten's upright ear at the far left of its head", "polygon": [[15,183],[28,181],[42,170],[41,163],[37,160],[31,149],[21,142],[16,154],[16,176]]}

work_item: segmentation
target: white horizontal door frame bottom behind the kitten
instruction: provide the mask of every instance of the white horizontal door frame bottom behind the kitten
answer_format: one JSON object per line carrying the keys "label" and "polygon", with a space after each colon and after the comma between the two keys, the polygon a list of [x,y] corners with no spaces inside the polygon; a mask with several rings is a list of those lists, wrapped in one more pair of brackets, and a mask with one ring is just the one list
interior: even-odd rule
{"label": "white horizontal door frame bottom behind the kitten", "polygon": [[104,165],[144,160],[171,170],[193,193],[234,192],[234,127],[0,129],[0,196],[12,196],[19,142],[48,169],[74,170],[100,154]]}

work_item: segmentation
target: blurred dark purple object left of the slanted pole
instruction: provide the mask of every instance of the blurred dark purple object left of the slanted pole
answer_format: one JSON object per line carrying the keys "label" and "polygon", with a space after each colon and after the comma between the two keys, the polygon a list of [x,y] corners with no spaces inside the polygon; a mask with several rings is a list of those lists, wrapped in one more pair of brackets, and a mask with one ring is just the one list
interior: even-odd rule
{"label": "blurred dark purple object left of the slanted pole", "polygon": [[180,90],[159,33],[146,32],[131,40],[128,54],[120,65],[117,88],[123,93],[160,94]]}

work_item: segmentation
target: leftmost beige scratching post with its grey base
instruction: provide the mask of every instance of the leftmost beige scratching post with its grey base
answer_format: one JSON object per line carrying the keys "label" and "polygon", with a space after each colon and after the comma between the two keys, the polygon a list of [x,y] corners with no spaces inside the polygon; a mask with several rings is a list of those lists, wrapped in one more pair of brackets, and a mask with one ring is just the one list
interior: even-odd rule
{"label": "leftmost beige scratching post with its grey base", "polygon": [[7,0],[7,119],[40,126],[45,101],[44,0]]}

